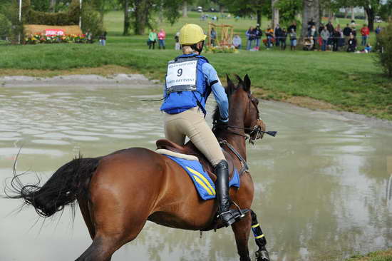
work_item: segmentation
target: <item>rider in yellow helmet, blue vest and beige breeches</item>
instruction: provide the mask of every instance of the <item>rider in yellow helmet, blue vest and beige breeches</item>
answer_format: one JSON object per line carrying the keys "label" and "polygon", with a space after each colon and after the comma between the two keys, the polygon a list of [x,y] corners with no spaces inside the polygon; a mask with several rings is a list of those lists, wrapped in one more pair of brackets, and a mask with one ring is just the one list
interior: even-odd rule
{"label": "rider in yellow helmet, blue vest and beige breeches", "polygon": [[227,126],[229,103],[215,68],[207,58],[200,55],[206,37],[197,24],[185,24],[180,29],[183,54],[167,65],[165,101],[160,110],[165,112],[165,137],[178,145],[184,145],[187,136],[214,166],[217,175],[218,218],[225,226],[229,226],[241,213],[229,209],[229,168],[217,138],[205,121],[205,103],[211,92],[219,107],[218,124],[221,126]]}

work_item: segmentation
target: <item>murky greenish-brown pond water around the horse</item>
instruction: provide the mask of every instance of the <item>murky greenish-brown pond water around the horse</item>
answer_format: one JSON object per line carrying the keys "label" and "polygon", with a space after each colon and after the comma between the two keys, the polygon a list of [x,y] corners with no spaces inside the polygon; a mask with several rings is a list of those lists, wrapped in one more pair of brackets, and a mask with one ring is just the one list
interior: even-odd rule
{"label": "murky greenish-brown pond water around the horse", "polygon": [[[0,180],[48,178],[79,152],[154,148],[163,137],[160,88],[1,88]],[[213,104],[210,104],[212,107]],[[392,246],[392,131],[341,116],[262,102],[276,138],[248,148],[259,215],[272,260],[343,260]],[[25,181],[34,181],[33,177]],[[0,199],[0,260],[75,260],[91,240],[80,212],[37,221]],[[202,214],[202,213],[201,213]],[[251,252],[256,250],[252,238]],[[238,260],[231,230],[174,230],[148,222],[113,260]]]}

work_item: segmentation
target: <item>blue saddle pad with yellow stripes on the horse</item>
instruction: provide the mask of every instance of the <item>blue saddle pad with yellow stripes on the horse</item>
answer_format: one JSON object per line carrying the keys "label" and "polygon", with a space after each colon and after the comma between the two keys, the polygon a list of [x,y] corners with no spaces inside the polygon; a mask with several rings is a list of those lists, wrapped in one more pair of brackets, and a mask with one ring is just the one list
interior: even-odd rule
{"label": "blue saddle pad with yellow stripes on the horse", "polygon": [[[183,158],[177,158],[170,155],[165,155],[167,158],[174,160],[180,165],[190,176],[193,183],[195,184],[196,190],[203,200],[210,200],[215,198],[215,184],[212,182],[210,176],[202,165],[197,160],[185,160]],[[229,187],[239,188],[239,175],[237,169],[234,169],[232,179],[229,181]]]}

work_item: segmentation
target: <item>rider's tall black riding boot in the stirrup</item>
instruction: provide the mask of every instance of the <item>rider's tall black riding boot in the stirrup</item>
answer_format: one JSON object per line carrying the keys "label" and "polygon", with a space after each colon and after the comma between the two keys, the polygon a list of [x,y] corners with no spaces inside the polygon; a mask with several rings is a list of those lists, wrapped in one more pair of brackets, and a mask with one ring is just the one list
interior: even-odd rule
{"label": "rider's tall black riding boot in the stirrup", "polygon": [[244,213],[240,210],[229,209],[231,202],[229,198],[229,165],[226,160],[221,160],[214,167],[215,175],[217,175],[217,200],[219,203],[218,218],[220,218],[225,227],[232,225],[236,218],[243,218]]}

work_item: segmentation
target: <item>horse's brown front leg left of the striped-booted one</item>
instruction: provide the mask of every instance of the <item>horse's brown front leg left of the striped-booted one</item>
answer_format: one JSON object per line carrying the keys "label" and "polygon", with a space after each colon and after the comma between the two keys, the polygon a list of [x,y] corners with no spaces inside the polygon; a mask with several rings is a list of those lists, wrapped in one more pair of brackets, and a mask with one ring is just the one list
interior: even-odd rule
{"label": "horse's brown front leg left of the striped-booted one", "polygon": [[232,225],[240,261],[250,261],[248,239],[251,224],[252,217],[250,213],[247,213],[247,215],[242,218],[242,220],[239,220]]}

